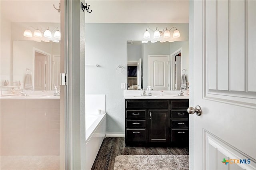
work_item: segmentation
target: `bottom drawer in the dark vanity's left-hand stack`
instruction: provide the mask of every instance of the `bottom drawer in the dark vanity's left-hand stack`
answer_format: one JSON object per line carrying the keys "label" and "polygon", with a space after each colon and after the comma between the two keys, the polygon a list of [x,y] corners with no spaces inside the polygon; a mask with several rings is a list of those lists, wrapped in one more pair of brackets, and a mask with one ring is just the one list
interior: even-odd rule
{"label": "bottom drawer in the dark vanity's left-hand stack", "polygon": [[126,129],[126,142],[146,142],[146,129]]}

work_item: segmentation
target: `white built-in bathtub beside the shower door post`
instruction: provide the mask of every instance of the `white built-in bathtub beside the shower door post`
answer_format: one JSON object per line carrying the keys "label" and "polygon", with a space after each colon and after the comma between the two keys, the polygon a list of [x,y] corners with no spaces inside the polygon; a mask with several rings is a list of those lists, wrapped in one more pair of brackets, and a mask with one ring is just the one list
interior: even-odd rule
{"label": "white built-in bathtub beside the shower door post", "polygon": [[86,114],[86,170],[90,170],[106,137],[106,114]]}

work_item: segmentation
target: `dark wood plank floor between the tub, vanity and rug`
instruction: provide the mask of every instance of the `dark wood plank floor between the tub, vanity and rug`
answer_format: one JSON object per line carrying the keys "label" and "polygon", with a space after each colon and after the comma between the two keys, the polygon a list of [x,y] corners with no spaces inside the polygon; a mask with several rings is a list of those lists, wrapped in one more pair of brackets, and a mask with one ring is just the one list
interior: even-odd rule
{"label": "dark wood plank floor between the tub, vanity and rug", "polygon": [[102,142],[92,170],[113,170],[118,155],[188,155],[188,148],[124,147],[124,137],[108,137]]}

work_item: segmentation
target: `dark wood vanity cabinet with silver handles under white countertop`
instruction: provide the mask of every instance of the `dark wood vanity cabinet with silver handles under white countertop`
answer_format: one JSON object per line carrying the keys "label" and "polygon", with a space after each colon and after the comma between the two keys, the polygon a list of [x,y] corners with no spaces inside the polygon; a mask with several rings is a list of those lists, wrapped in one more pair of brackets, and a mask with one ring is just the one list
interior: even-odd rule
{"label": "dark wood vanity cabinet with silver handles under white countertop", "polygon": [[126,146],[188,146],[188,99],[125,99]]}

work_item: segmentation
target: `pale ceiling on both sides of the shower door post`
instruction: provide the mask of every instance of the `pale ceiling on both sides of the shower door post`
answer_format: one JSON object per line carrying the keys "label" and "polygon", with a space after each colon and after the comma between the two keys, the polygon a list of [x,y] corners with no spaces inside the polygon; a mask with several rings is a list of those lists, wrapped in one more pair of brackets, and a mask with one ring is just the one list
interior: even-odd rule
{"label": "pale ceiling on both sides of the shower door post", "polygon": [[[60,22],[60,0],[1,0],[11,22]],[[86,23],[188,23],[188,0],[88,0]]]}

